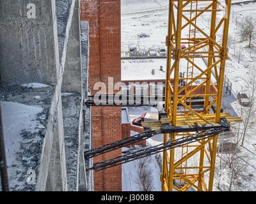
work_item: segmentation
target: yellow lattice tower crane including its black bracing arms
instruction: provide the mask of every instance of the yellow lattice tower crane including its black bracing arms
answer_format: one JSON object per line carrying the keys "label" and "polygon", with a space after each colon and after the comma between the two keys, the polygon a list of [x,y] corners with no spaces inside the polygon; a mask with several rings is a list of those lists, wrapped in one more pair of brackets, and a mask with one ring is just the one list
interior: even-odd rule
{"label": "yellow lattice tower crane including its black bracing arms", "polygon": [[[84,157],[90,159],[158,134],[164,134],[164,143],[100,161],[86,171],[163,152],[162,191],[212,191],[218,135],[241,122],[221,110],[231,0],[169,3],[165,112],[160,108],[159,120],[141,122],[143,133],[88,150]],[[86,105],[95,102],[87,100]]]}

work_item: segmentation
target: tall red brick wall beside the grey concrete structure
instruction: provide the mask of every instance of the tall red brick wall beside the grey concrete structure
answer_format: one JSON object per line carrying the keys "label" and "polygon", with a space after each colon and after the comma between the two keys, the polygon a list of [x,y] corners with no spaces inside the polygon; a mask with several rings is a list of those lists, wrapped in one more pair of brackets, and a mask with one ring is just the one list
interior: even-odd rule
{"label": "tall red brick wall beside the grey concrete structure", "polygon": [[[89,87],[114,77],[121,80],[120,0],[81,0],[81,20],[89,21]],[[93,147],[122,139],[121,108],[92,108]],[[121,155],[121,150],[95,157],[94,162]],[[95,172],[95,191],[122,191],[122,166]]]}

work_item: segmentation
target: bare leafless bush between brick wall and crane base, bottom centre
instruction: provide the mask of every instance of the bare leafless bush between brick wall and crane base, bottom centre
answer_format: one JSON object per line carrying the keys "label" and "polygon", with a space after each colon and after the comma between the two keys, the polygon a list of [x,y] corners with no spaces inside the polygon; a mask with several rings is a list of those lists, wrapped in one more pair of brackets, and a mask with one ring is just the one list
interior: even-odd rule
{"label": "bare leafless bush between brick wall and crane base, bottom centre", "polygon": [[137,160],[138,180],[136,183],[140,187],[140,191],[153,191],[152,171],[148,168],[150,157],[143,157]]}

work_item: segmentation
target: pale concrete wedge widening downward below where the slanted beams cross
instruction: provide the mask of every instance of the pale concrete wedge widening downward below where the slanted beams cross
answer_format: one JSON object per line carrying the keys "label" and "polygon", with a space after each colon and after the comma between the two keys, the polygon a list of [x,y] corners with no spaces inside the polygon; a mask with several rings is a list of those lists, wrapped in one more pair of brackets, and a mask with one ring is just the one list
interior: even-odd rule
{"label": "pale concrete wedge widening downward below where the slanted beams cross", "polygon": [[[58,97],[57,95],[52,97],[53,103],[49,113],[51,120],[49,120],[50,122],[47,126],[49,135],[45,137],[44,142],[44,152],[40,166],[41,177],[38,178],[36,189],[38,191],[67,191],[61,95],[60,89],[55,91],[54,94],[58,94]],[[45,180],[45,172],[48,172],[47,180]]]}

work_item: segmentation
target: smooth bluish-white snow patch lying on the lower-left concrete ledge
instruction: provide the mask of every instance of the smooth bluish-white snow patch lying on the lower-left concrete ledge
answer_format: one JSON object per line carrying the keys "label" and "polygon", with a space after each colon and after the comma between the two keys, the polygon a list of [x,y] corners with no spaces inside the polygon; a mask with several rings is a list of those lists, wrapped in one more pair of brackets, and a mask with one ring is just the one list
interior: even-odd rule
{"label": "smooth bluish-white snow patch lying on the lower-left concrete ledge", "polygon": [[[3,117],[3,133],[4,143],[6,147],[6,160],[8,164],[8,176],[10,178],[10,186],[21,184],[17,179],[17,170],[22,170],[22,165],[17,160],[17,153],[21,152],[20,143],[22,142],[22,136],[20,133],[23,129],[36,131],[36,127],[44,128],[40,122],[36,120],[36,115],[42,112],[43,108],[40,106],[28,106],[20,103],[13,102],[1,102],[1,110]],[[11,167],[17,165],[16,168]]]}

